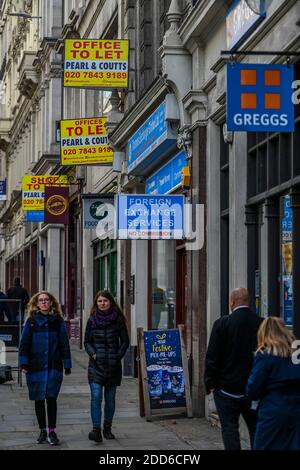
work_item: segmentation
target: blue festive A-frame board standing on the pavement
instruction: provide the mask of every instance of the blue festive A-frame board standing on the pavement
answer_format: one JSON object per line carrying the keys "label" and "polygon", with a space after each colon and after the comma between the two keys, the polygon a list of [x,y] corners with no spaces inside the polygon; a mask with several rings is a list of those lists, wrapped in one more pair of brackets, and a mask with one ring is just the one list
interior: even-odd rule
{"label": "blue festive A-frame board standing on the pavement", "polygon": [[140,414],[147,421],[160,414],[186,412],[192,417],[183,328],[137,330]]}

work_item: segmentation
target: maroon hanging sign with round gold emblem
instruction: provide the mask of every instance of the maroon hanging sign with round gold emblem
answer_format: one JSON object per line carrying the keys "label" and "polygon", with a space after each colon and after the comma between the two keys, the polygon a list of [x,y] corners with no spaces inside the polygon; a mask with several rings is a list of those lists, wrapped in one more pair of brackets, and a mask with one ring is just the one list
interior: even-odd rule
{"label": "maroon hanging sign with round gold emblem", "polygon": [[45,186],[45,223],[69,223],[69,188]]}

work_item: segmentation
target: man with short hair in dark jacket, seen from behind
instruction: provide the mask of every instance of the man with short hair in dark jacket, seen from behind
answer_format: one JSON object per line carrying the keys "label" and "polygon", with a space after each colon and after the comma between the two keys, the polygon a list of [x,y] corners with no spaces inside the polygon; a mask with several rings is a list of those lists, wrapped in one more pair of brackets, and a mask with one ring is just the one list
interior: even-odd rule
{"label": "man with short hair in dark jacket, seen from behind", "polygon": [[204,379],[207,393],[214,393],[225,449],[240,450],[240,415],[248,427],[251,446],[254,439],[256,413],[245,390],[262,319],[249,309],[249,293],[243,287],[232,291],[230,309],[231,315],[213,325]]}

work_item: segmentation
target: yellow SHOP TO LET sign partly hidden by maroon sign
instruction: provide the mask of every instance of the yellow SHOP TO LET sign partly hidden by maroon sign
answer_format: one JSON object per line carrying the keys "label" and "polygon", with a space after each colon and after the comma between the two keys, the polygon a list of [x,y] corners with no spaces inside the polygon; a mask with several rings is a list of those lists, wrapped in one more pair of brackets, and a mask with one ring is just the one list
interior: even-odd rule
{"label": "yellow SHOP TO LET sign partly hidden by maroon sign", "polygon": [[22,209],[43,211],[45,186],[66,186],[67,175],[26,175],[22,176]]}

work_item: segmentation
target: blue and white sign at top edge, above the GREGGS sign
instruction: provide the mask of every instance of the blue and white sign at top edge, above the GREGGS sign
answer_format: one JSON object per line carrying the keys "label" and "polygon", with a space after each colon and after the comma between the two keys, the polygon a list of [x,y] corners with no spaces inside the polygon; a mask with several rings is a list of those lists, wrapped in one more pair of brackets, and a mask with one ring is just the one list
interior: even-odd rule
{"label": "blue and white sign at top edge, above the GREGGS sign", "polygon": [[245,0],[234,0],[226,16],[226,38],[229,50],[238,48],[266,17],[264,0],[257,0],[257,12]]}

